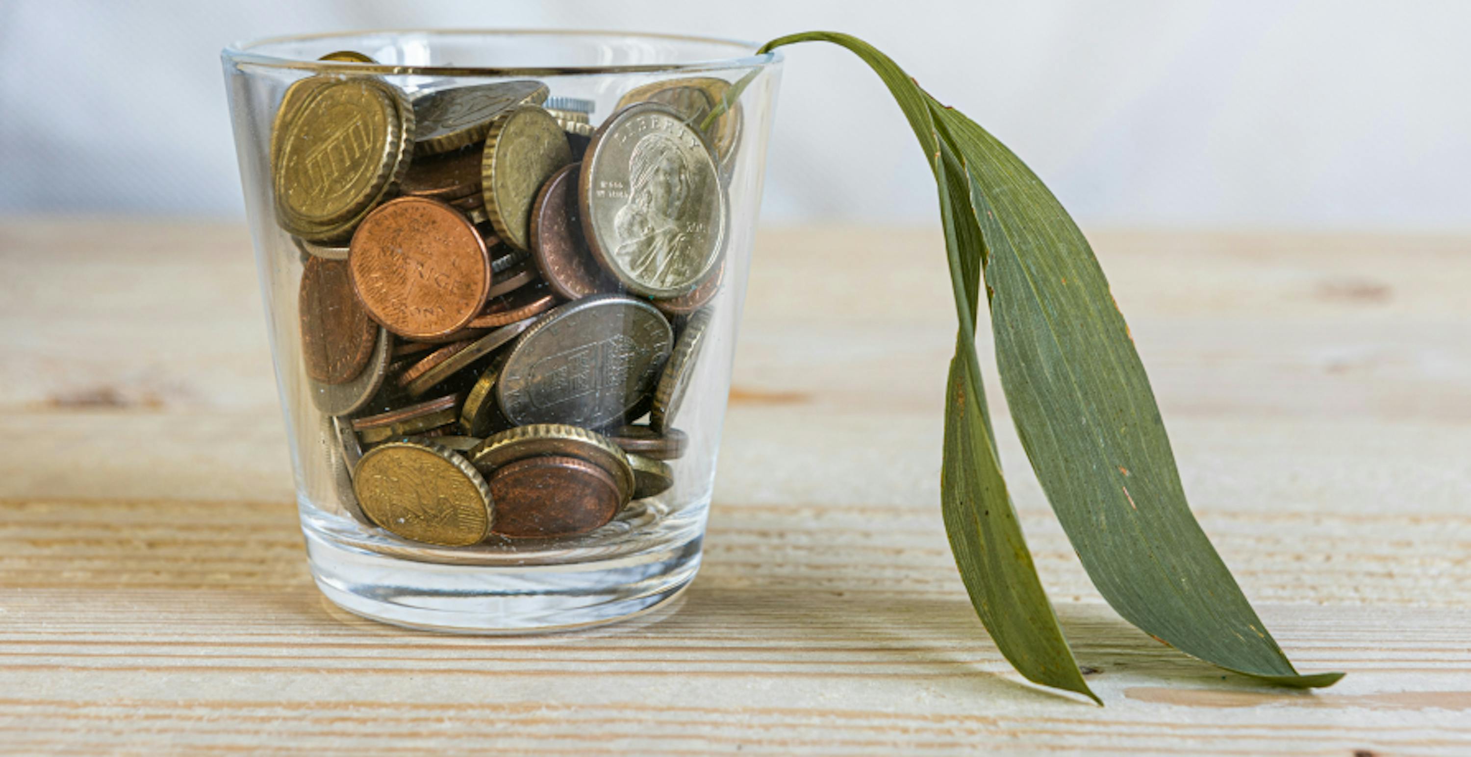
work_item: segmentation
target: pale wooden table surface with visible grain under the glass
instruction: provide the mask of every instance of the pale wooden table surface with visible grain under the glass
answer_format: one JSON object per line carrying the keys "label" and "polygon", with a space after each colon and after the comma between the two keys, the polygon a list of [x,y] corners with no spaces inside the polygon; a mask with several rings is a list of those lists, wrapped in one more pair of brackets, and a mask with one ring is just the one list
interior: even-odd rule
{"label": "pale wooden table surface with visible grain under the glass", "polygon": [[931,232],[759,238],[705,567],[675,611],[471,638],[313,588],[243,226],[9,219],[0,750],[1471,753],[1471,240],[1094,243],[1205,529],[1337,686],[1253,685],[1119,620],[997,409],[1108,706],[1009,669],[940,523],[955,326]]}

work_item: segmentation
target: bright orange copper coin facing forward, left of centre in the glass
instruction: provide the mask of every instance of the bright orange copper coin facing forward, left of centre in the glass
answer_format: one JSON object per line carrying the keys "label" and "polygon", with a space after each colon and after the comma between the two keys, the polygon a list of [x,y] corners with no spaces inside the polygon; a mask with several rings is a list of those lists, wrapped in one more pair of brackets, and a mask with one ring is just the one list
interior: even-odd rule
{"label": "bright orange copper coin facing forward, left of centre in the glass", "polygon": [[353,234],[347,265],[368,315],[407,338],[453,334],[490,297],[490,253],[475,226],[427,197],[381,204]]}

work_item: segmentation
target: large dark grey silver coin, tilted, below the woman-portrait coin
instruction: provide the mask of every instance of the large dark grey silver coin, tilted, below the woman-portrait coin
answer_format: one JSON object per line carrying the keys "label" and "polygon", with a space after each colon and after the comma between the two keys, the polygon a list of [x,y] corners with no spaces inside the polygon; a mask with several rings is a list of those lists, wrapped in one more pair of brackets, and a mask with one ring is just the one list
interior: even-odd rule
{"label": "large dark grey silver coin, tilted, below the woman-portrait coin", "polygon": [[594,295],[552,309],[506,356],[496,382],[513,423],[600,428],[644,404],[674,329],[647,303]]}

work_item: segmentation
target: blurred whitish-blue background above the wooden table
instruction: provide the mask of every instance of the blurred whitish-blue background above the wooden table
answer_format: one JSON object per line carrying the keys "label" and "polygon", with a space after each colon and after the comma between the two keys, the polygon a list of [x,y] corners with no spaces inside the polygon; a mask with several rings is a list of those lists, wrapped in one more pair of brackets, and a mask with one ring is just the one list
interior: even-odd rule
{"label": "blurred whitish-blue background above the wooden table", "polygon": [[[856,34],[1084,223],[1471,229],[1471,3],[0,0],[0,213],[238,215],[228,43],[385,26]],[[787,49],[763,220],[925,223],[893,103]]]}

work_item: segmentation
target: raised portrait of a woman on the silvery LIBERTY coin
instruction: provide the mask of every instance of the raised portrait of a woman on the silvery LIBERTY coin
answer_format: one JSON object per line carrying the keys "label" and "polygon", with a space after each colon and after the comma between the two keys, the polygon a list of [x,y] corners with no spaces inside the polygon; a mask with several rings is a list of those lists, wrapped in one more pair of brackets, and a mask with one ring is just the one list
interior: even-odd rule
{"label": "raised portrait of a woman on the silvery LIBERTY coin", "polygon": [[684,231],[690,220],[699,220],[690,216],[703,210],[691,197],[694,176],[696,166],[677,140],[650,134],[634,146],[628,204],[613,218],[619,240],[613,256],[635,279],[669,287],[699,275],[694,268],[703,260],[687,253],[696,240]]}

